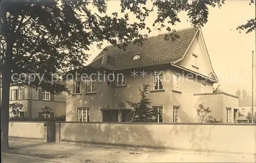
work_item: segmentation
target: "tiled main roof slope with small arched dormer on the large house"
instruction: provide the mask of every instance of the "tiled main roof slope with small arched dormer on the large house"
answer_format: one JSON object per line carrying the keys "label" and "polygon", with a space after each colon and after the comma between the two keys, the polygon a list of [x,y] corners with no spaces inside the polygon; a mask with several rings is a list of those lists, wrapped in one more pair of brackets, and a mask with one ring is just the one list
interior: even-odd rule
{"label": "tiled main roof slope with small arched dormer on the large house", "polygon": [[[180,38],[174,41],[164,39],[167,33],[149,37],[142,46],[130,43],[126,51],[113,45],[107,46],[108,51],[101,51],[89,66],[99,67],[101,64],[100,58],[104,53],[115,58],[114,68],[113,64],[109,63],[106,69],[122,70],[174,62],[183,57],[199,29],[200,27],[191,27],[178,30],[176,32]],[[135,55],[139,55],[140,59],[133,60]]]}

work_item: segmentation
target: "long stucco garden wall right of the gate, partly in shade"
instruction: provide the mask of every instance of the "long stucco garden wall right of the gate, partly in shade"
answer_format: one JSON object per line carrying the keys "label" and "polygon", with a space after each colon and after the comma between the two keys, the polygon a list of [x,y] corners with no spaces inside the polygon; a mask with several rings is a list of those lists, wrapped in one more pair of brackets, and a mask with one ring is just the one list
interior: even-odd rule
{"label": "long stucco garden wall right of the gate, partly in shade", "polygon": [[57,142],[256,154],[255,134],[255,125],[66,122],[60,123],[60,135],[56,138]]}

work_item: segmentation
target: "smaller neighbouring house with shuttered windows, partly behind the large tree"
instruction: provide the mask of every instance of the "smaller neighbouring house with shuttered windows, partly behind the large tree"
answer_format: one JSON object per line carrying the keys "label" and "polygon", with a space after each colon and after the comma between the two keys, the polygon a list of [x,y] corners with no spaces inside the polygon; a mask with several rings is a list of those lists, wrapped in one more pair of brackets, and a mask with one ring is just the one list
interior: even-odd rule
{"label": "smaller neighbouring house with shuttered windows, partly behind the large tree", "polygon": [[[12,85],[10,87],[10,104],[12,103],[23,104],[23,109],[19,111],[19,117],[49,118],[65,117],[66,115],[66,92],[53,95],[42,89],[36,91],[32,87]],[[41,109],[45,106],[51,107],[53,112],[49,115],[43,114]],[[12,117],[11,113],[10,117]]]}

